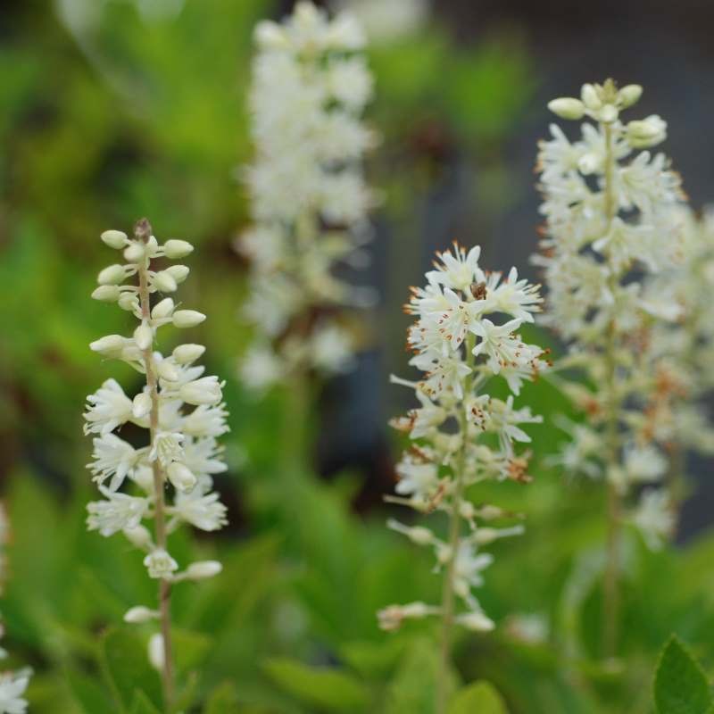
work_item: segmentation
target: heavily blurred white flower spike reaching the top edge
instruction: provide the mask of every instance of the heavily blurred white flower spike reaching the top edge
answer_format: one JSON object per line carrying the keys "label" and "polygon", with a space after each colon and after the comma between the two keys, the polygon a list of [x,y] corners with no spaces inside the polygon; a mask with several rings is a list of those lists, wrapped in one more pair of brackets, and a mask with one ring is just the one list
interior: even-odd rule
{"label": "heavily blurred white flower spike reaching the top edge", "polygon": [[237,251],[251,263],[244,314],[257,333],[241,375],[261,389],[295,369],[349,367],[353,338],[338,308],[372,298],[335,268],[367,258],[361,245],[374,195],[361,164],[375,136],[361,122],[372,77],[350,15],[330,20],[301,2],[281,24],[262,21],[255,42],[256,156],[245,171],[253,226]]}

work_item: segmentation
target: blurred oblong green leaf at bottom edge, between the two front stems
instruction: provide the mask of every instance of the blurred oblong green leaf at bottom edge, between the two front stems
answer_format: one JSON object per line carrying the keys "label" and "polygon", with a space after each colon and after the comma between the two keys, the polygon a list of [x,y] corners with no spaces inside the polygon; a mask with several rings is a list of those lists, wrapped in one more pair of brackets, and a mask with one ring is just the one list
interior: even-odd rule
{"label": "blurred oblong green leaf at bottom edge, between the two front stems", "polygon": [[286,657],[268,660],[264,668],[281,689],[300,702],[328,711],[367,710],[367,688],[344,671],[308,667]]}

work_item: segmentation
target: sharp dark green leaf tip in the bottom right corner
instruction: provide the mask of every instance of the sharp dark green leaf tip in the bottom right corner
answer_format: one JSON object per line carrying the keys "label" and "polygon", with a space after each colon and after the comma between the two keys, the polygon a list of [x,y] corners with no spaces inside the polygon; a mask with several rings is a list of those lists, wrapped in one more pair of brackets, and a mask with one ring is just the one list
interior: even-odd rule
{"label": "sharp dark green leaf tip in the bottom right corner", "polygon": [[658,714],[705,714],[712,706],[707,677],[677,635],[671,636],[660,656],[654,701]]}

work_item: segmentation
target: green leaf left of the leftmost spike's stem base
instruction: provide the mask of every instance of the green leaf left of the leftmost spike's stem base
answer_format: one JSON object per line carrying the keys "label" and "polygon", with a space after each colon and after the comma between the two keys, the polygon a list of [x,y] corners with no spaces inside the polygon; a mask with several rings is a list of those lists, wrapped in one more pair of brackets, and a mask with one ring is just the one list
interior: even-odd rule
{"label": "green leaf left of the leftmost spike's stem base", "polygon": [[136,701],[137,689],[149,696],[149,701],[161,702],[161,683],[151,667],[143,639],[128,630],[110,630],[104,635],[102,660],[107,677],[125,710]]}

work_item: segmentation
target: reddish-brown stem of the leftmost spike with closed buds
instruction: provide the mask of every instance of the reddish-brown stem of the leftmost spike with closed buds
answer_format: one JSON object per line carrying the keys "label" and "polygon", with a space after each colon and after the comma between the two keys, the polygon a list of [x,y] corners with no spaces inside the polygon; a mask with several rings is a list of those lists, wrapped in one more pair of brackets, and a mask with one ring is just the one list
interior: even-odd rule
{"label": "reddish-brown stem of the leftmost spike with closed buds", "polygon": [[[145,219],[138,221],[135,228],[137,239],[146,242],[151,236],[151,225]],[[148,323],[151,319],[151,302],[148,284],[149,261],[144,260],[139,265],[139,300],[141,301],[142,319]],[[159,430],[159,391],[158,380],[156,378],[156,365],[154,364],[154,345],[149,345],[143,351],[144,366],[146,370],[146,386],[149,387],[151,396],[151,412],[149,414],[149,434],[151,438],[150,449],[154,448],[154,440]],[[161,463],[154,459],[152,463],[154,471],[154,523],[156,546],[166,550],[166,513],[163,497],[164,475]],[[163,706],[164,710],[170,712],[174,699],[174,679],[173,679],[173,655],[171,648],[171,616],[170,616],[171,584],[162,578],[159,581],[159,612],[161,618],[162,642],[163,642]]]}

